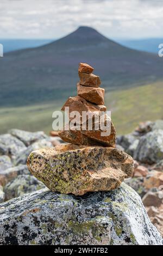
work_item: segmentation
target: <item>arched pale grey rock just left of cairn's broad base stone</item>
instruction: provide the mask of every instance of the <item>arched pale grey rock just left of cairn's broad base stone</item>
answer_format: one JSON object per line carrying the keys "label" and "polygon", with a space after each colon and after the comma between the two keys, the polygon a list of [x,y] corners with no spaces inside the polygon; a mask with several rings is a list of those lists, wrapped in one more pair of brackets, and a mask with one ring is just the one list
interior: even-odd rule
{"label": "arched pale grey rock just left of cairn's broad base stone", "polygon": [[21,154],[17,155],[15,159],[15,165],[26,164],[27,158],[33,150],[42,149],[42,148],[43,149],[52,148],[52,147],[53,147],[53,144],[51,141],[49,141],[49,139],[41,139],[40,141],[36,141],[33,144],[29,145],[28,148],[24,149],[21,152]]}

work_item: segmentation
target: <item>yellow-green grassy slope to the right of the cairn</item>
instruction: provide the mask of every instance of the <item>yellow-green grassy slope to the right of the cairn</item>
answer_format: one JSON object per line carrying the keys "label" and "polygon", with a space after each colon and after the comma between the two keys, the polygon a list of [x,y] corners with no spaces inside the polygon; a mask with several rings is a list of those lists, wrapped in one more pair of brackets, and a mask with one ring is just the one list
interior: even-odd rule
{"label": "yellow-green grassy slope to the right of the cairn", "polygon": [[112,110],[117,133],[133,131],[137,123],[163,118],[163,82],[112,92],[105,105]]}

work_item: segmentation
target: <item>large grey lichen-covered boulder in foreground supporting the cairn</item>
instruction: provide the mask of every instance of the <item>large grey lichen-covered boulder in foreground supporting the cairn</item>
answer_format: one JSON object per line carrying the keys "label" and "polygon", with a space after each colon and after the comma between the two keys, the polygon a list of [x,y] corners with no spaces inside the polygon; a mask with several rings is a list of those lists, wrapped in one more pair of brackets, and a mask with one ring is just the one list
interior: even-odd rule
{"label": "large grey lichen-covered boulder in foreground supporting the cairn", "polygon": [[137,193],[115,191],[83,197],[47,188],[0,205],[1,245],[163,245]]}

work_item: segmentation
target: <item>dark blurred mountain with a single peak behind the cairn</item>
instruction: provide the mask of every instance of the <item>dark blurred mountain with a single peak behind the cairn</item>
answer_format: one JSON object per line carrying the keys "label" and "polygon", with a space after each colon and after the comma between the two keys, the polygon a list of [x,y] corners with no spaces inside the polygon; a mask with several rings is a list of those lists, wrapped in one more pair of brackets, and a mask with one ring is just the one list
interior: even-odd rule
{"label": "dark blurred mountain with a single peak behind the cairn", "polygon": [[0,105],[23,106],[76,94],[78,63],[95,67],[108,90],[163,79],[162,59],[109,40],[95,29],[79,27],[50,44],[5,54],[0,59]]}

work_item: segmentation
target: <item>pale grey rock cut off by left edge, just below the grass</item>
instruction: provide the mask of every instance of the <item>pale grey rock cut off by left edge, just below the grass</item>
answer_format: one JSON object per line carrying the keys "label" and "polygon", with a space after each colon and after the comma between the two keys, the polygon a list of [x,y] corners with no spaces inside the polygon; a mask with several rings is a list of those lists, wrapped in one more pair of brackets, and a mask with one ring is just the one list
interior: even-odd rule
{"label": "pale grey rock cut off by left edge, just below the grass", "polygon": [[22,150],[26,149],[26,145],[10,134],[0,135],[0,155],[8,155],[15,159]]}

